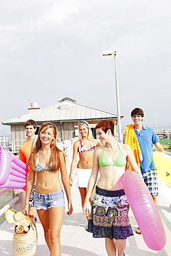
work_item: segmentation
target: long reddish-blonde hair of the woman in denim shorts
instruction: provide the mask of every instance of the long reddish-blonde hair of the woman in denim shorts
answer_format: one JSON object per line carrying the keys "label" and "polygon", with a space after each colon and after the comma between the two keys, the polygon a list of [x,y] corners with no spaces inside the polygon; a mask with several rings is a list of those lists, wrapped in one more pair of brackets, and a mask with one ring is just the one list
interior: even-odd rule
{"label": "long reddish-blonde hair of the woman in denim shorts", "polygon": [[[58,171],[60,169],[60,152],[62,152],[62,150],[58,149],[57,145],[56,145],[57,127],[55,127],[55,125],[53,125],[52,122],[44,122],[42,127],[39,129],[39,134],[42,131],[46,131],[48,128],[53,129],[54,139],[51,141],[51,145],[50,145],[50,147],[51,147],[51,156],[49,158],[47,167],[51,166],[52,171]],[[39,138],[39,134],[38,134],[38,138],[37,138],[37,141],[35,143],[35,146],[33,147],[33,150],[30,154],[29,163],[28,163],[30,169],[32,169],[34,171],[36,171],[35,160],[36,160],[36,157],[37,157],[37,153],[39,152],[39,149],[41,149],[41,147],[42,147],[42,142]],[[64,152],[62,152],[62,154],[64,155]]]}

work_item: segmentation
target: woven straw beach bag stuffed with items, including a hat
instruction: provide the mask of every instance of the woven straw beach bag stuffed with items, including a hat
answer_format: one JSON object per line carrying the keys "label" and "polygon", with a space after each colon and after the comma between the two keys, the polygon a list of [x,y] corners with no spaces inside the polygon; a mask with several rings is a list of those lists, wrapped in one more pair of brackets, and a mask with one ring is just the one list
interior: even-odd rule
{"label": "woven straw beach bag stuffed with items, including a hat", "polygon": [[35,221],[28,215],[22,215],[22,212],[15,212],[15,210],[12,209],[6,211],[6,220],[9,223],[15,223],[16,225],[15,234],[12,240],[12,253],[15,256],[35,255],[37,249],[37,230]]}

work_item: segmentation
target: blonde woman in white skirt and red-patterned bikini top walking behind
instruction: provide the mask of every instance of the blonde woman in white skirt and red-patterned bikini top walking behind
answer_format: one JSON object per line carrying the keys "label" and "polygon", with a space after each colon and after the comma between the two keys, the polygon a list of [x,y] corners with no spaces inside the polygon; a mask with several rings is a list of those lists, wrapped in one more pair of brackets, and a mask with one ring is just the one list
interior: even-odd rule
{"label": "blonde woman in white skirt and red-patterned bikini top walking behind", "polygon": [[[86,121],[80,122],[78,125],[79,137],[73,145],[73,161],[71,163],[71,171],[69,175],[70,184],[78,187],[80,190],[80,196],[82,200],[82,206],[87,192],[87,185],[89,177],[91,176],[93,166],[93,152],[96,147],[100,147],[101,144],[98,140],[93,138],[89,123]],[[77,163],[77,156],[79,153],[79,161],[75,170],[75,176],[73,179],[73,171]],[[93,191],[94,192],[94,191]],[[93,192],[90,197],[90,201],[93,198]],[[89,219],[87,217],[87,219]]]}

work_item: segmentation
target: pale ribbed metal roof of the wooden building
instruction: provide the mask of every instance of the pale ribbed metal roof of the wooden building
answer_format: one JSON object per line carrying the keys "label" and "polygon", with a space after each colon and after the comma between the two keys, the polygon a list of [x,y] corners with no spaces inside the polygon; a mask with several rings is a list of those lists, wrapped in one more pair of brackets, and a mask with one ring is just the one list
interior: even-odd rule
{"label": "pale ribbed metal roof of the wooden building", "polygon": [[[120,118],[123,118],[123,116],[120,116]],[[33,119],[36,122],[73,122],[80,120],[117,119],[117,115],[93,107],[84,106],[66,97],[57,104],[45,107],[44,109],[31,110],[23,116],[3,121],[2,124],[19,124],[29,119]]]}

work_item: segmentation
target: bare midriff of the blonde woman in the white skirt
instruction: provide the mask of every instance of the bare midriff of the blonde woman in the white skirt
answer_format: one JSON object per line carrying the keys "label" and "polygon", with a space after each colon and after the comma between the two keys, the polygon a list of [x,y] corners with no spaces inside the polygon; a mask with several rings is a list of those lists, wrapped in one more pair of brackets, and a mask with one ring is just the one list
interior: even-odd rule
{"label": "bare midriff of the blonde woman in the white skirt", "polygon": [[93,152],[79,153],[79,162],[77,167],[80,169],[92,169],[93,166]]}

